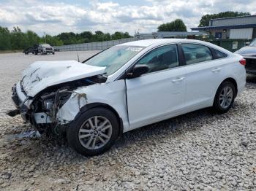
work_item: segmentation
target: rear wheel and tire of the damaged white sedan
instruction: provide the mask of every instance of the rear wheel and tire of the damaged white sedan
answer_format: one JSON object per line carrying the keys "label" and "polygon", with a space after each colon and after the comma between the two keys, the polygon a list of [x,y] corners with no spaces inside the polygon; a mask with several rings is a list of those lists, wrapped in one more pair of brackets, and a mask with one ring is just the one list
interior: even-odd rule
{"label": "rear wheel and tire of the damaged white sedan", "polygon": [[214,98],[214,110],[219,114],[228,112],[234,104],[235,97],[236,88],[233,83],[222,82]]}

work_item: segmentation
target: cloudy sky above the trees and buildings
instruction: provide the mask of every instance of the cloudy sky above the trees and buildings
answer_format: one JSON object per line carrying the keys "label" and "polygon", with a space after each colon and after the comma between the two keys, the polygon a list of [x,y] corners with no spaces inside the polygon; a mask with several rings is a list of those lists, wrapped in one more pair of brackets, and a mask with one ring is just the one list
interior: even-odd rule
{"label": "cloudy sky above the trees and buildings", "polygon": [[157,26],[177,18],[187,29],[202,15],[225,11],[256,15],[255,0],[0,0],[0,26],[12,30],[44,32],[128,31],[134,35],[157,31]]}

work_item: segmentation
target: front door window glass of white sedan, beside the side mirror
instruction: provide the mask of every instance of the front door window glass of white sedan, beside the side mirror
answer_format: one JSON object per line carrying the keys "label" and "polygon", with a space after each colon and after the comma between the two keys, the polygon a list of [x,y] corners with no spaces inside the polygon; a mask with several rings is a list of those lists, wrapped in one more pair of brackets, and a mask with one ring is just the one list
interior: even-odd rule
{"label": "front door window glass of white sedan, beside the side mirror", "polygon": [[147,65],[148,73],[175,68],[178,66],[177,46],[171,44],[152,50],[136,64]]}

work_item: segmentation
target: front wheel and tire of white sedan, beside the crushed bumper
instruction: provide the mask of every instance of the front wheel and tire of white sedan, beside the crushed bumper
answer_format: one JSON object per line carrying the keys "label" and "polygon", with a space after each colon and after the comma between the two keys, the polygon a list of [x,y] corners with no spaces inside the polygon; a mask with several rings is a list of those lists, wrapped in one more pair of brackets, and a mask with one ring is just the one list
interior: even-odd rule
{"label": "front wheel and tire of white sedan, beside the crushed bumper", "polygon": [[[97,128],[95,127],[95,119],[97,119]],[[101,127],[101,125],[104,126]],[[106,129],[103,130],[104,128]],[[114,144],[118,138],[118,130],[119,125],[116,115],[108,109],[96,107],[76,117],[67,128],[67,141],[81,155],[99,155],[110,149]],[[103,134],[108,138],[102,136]]]}

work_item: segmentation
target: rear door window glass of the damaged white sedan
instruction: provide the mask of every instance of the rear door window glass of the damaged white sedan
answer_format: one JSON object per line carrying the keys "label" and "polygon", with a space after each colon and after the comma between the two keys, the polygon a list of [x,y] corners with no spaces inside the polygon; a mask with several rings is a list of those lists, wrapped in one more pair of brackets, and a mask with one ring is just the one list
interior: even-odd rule
{"label": "rear door window glass of the damaged white sedan", "polygon": [[213,56],[211,50],[200,44],[181,44],[186,64],[211,61]]}

